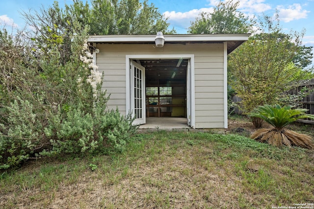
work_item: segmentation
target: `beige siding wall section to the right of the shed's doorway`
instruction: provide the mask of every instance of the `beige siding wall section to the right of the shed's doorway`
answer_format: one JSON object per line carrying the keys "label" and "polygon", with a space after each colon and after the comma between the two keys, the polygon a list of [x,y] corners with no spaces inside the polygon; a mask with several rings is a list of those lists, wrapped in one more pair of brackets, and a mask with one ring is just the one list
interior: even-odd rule
{"label": "beige siding wall section to the right of the shed's doorway", "polygon": [[195,127],[224,127],[223,44],[195,52]]}

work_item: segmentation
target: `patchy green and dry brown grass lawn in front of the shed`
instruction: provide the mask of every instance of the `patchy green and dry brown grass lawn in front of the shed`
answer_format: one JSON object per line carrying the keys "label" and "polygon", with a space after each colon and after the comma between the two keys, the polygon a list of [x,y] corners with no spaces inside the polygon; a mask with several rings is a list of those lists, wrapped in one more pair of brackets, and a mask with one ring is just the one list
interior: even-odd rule
{"label": "patchy green and dry brown grass lawn in front of the shed", "polygon": [[122,154],[38,160],[0,174],[1,209],[314,204],[314,150],[277,148],[235,134],[138,134]]}

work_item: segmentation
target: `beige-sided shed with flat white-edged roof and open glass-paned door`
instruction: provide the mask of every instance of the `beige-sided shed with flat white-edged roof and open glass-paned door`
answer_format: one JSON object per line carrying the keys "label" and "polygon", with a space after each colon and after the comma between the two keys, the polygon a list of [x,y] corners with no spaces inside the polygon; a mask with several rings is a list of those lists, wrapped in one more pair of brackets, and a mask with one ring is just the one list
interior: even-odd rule
{"label": "beige-sided shed with flat white-edged roof and open glass-paned door", "polygon": [[[185,118],[191,128],[227,128],[227,55],[250,34],[95,35],[109,109],[135,116]],[[98,53],[96,53],[98,52]]]}

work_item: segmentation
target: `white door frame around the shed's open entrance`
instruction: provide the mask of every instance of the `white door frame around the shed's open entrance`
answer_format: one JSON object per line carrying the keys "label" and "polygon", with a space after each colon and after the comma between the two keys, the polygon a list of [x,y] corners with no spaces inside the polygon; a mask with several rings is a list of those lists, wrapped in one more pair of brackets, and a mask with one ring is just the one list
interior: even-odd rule
{"label": "white door frame around the shed's open entrance", "polygon": [[[195,128],[195,74],[194,74],[194,54],[129,54],[126,55],[126,112],[131,113],[131,60],[152,60],[152,59],[189,59],[190,67],[186,70],[186,85],[189,92],[186,91],[186,105],[188,125]],[[189,83],[188,83],[189,80]],[[189,101],[188,101],[189,98]],[[145,98],[144,98],[145,99]],[[145,103],[146,104],[146,103]],[[146,107],[145,107],[146,108]]]}

